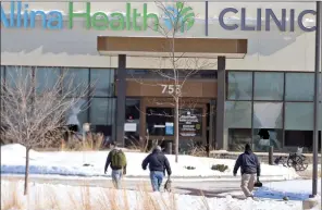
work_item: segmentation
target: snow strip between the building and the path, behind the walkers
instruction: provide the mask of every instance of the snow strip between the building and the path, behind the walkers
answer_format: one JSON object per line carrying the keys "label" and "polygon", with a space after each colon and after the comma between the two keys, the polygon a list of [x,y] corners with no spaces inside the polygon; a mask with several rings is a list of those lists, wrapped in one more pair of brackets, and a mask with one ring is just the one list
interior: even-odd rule
{"label": "snow strip between the building and the path, behind the walkers", "polygon": [[[109,151],[59,151],[37,152],[30,151],[30,174],[47,175],[77,175],[77,176],[101,176]],[[147,153],[125,152],[127,158],[127,177],[148,176],[149,171],[141,170],[141,162]],[[175,163],[174,156],[168,156],[174,177],[233,177],[235,160],[198,158],[191,156],[179,156]],[[84,166],[84,163],[89,166]],[[219,172],[211,170],[213,164],[226,164],[228,170]],[[188,170],[186,166],[195,166]],[[293,169],[282,165],[262,164],[262,176],[271,178],[293,180],[298,177]],[[25,148],[13,144],[1,147],[1,173],[22,174],[25,172]],[[110,169],[108,174],[110,174]]]}

